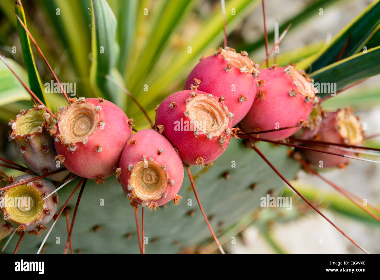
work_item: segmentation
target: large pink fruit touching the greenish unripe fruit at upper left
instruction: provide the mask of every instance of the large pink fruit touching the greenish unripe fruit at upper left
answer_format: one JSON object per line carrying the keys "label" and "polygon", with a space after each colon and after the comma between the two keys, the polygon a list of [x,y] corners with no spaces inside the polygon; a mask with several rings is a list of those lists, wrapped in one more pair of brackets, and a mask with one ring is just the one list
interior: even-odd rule
{"label": "large pink fruit touching the greenish unripe fruit at upper left", "polygon": [[54,144],[58,157],[72,173],[104,182],[119,165],[133,119],[102,98],[78,98],[61,107]]}

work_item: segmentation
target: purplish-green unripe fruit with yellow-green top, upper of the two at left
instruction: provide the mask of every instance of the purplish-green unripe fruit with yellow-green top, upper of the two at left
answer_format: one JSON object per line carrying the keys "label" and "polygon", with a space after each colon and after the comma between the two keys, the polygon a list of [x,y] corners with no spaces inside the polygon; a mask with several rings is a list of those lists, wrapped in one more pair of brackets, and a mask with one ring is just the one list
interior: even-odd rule
{"label": "purplish-green unripe fruit with yellow-green top, upper of the two at left", "polygon": [[[43,106],[27,111],[21,110],[14,121],[9,121],[12,128],[9,140],[13,142],[14,149],[22,162],[38,175],[65,167],[55,159],[57,153],[53,137],[48,131],[51,122],[52,118]],[[69,174],[70,171],[66,170],[46,178],[51,181],[62,181]]]}

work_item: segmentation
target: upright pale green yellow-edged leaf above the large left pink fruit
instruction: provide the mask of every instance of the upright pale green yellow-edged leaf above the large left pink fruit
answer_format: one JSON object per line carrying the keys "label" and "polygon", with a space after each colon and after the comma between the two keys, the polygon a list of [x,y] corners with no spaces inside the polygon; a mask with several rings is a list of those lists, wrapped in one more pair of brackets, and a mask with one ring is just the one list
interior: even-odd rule
{"label": "upright pale green yellow-edged leaf above the large left pink fruit", "polygon": [[105,97],[124,110],[126,107],[125,94],[105,78],[105,75],[110,75],[118,82],[121,78],[116,69],[116,62],[119,58],[119,45],[116,42],[116,18],[105,0],[92,0],[91,14],[92,64],[90,84],[98,96]]}

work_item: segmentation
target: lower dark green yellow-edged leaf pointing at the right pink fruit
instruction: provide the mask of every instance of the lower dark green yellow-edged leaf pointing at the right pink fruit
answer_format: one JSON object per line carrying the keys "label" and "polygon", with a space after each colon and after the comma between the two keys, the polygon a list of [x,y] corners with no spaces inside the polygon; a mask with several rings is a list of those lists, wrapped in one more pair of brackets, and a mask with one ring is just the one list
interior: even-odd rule
{"label": "lower dark green yellow-edged leaf pointing at the right pink fruit", "polygon": [[[313,72],[310,77],[314,78],[316,83],[336,83],[334,89],[339,91],[378,74],[380,74],[380,46],[368,50],[367,53],[355,54],[330,64]],[[320,92],[318,95],[323,98],[330,94],[331,92]]]}

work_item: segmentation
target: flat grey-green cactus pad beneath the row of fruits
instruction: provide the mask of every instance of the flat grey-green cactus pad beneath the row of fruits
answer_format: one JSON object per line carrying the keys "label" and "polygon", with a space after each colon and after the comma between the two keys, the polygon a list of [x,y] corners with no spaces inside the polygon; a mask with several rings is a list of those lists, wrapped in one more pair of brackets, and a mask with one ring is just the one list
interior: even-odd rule
{"label": "flat grey-green cactus pad beneath the row of fruits", "polygon": [[[287,156],[286,147],[263,142],[257,146],[287,179],[294,178],[299,164]],[[225,172],[231,175],[229,181],[222,175]],[[261,197],[284,186],[255,151],[236,139],[231,140],[214,165],[207,170],[194,166],[192,173],[204,211],[211,217],[211,226],[218,235],[235,224],[236,217],[249,215],[260,207]],[[61,202],[68,198],[78,182],[79,179],[75,179],[59,191]],[[71,237],[76,253],[139,253],[135,215],[127,195],[114,185],[116,182],[115,176],[108,178],[107,191],[94,180],[87,182]],[[145,211],[146,253],[178,253],[205,240],[211,242],[209,229],[187,178],[178,194],[183,197],[180,205],[166,203],[152,213]],[[75,194],[68,204],[72,209],[77,196]],[[66,221],[58,219],[44,251],[62,253],[65,248],[62,240],[66,238]],[[25,235],[18,253],[36,253],[41,242],[40,238]],[[12,253],[16,243],[17,238],[13,238],[5,251]]]}

